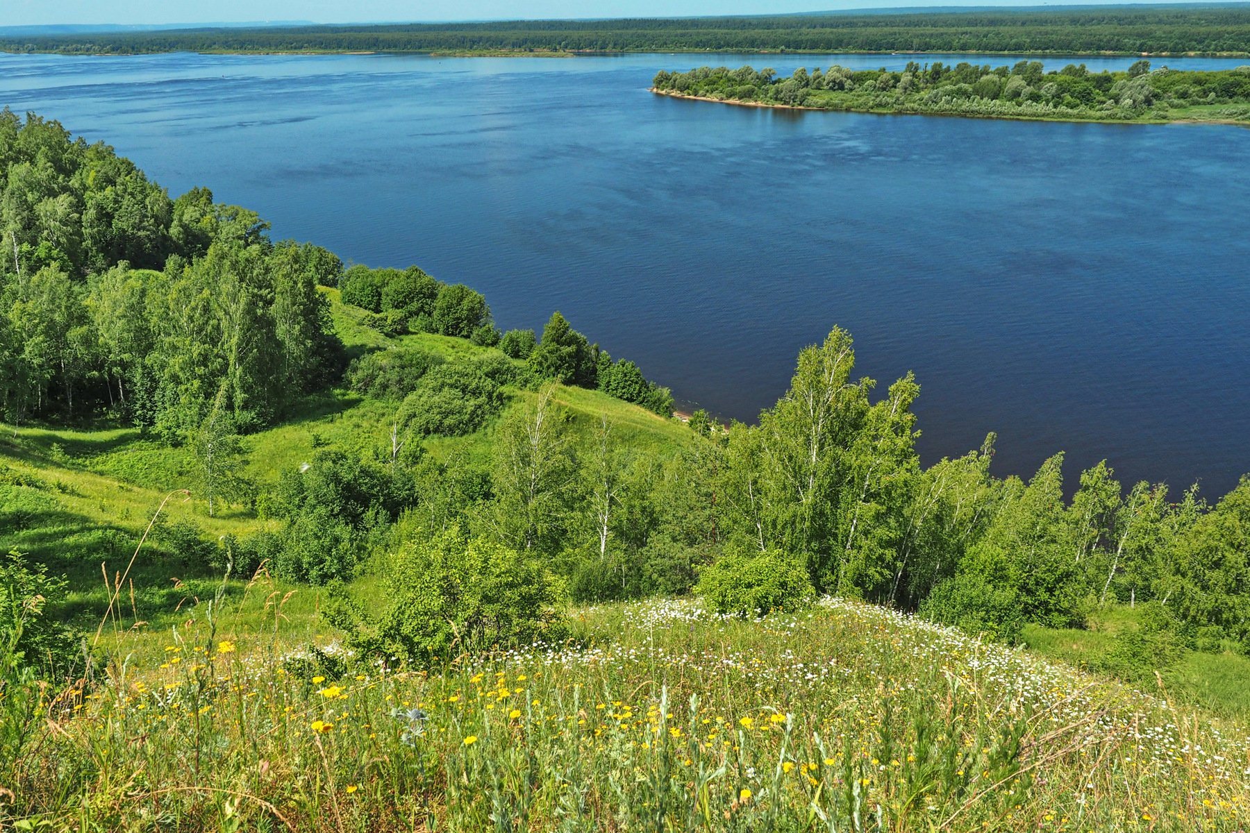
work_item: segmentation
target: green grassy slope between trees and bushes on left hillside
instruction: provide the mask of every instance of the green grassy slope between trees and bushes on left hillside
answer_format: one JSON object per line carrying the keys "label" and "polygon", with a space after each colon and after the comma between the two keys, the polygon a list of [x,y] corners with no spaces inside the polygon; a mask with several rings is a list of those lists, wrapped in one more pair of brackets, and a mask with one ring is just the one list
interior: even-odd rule
{"label": "green grassy slope between trees and bushes on left hillside", "polygon": [[[388,338],[360,323],[362,311],[342,306],[338,290],[325,290],[331,300],[335,328],[349,352],[360,355],[398,343],[419,345],[445,356],[480,352],[462,338],[436,335],[408,335]],[[508,407],[519,407],[535,396],[510,391]],[[671,443],[691,442],[689,430],[638,406],[596,391],[561,388],[558,402],[572,416],[574,430],[589,430],[600,413],[618,425],[620,436],[635,447],[658,450]],[[258,485],[272,483],[284,470],[308,461],[318,448],[341,448],[365,455],[388,440],[390,406],[364,400],[349,391],[334,390],[309,396],[281,425],[246,438],[246,475]],[[460,448],[476,460],[489,458],[490,426],[470,437],[434,440],[431,453],[442,456]],[[115,581],[126,569],[144,528],[161,501],[176,490],[191,490],[190,498],[175,495],[162,512],[170,521],[190,521],[205,537],[242,537],[275,521],[264,521],[244,506],[228,506],[216,517],[196,492],[195,461],[185,448],[144,437],[136,428],[100,431],[65,428],[21,428],[0,433],[0,506],[10,523],[0,521],[0,551],[18,550],[49,564],[70,579],[71,596],[65,614],[95,627],[109,604],[104,572]],[[20,508],[14,515],[14,507]],[[14,520],[16,518],[16,520]],[[101,571],[101,564],[105,564]],[[182,621],[190,606],[212,598],[221,589],[220,576],[202,564],[162,552],[154,542],[144,547],[122,588],[126,613],[122,628],[145,621],[130,633],[131,648],[154,649],[164,637],[158,633]],[[135,604],[130,603],[134,583]],[[242,582],[225,587],[222,602],[250,617],[254,627],[270,623],[270,593],[286,601],[285,633],[308,641],[316,637],[320,591],[280,582],[266,584],[265,593],[248,591]],[[296,627],[298,626],[298,627]],[[140,638],[134,638],[140,636]]]}

